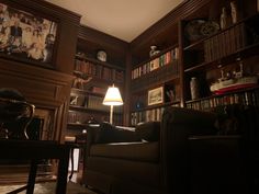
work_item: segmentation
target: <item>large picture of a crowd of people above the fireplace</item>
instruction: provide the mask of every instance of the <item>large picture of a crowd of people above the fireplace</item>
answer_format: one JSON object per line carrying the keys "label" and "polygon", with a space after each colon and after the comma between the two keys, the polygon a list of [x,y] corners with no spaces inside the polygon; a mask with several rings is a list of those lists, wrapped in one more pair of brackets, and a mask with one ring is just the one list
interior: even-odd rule
{"label": "large picture of a crowd of people above the fireplace", "polygon": [[0,3],[0,55],[53,65],[57,23]]}

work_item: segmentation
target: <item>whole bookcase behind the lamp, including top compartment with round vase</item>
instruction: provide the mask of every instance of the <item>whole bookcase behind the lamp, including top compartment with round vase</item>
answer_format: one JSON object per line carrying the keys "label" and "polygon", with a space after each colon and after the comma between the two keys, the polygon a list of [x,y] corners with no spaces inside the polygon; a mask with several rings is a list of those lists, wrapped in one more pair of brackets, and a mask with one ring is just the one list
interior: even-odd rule
{"label": "whole bookcase behind the lamp, including top compartment with round vase", "polygon": [[[77,136],[91,123],[109,122],[110,106],[102,101],[109,85],[123,91],[125,79],[124,43],[95,30],[80,26],[74,61],[66,136]],[[106,59],[98,59],[98,52]],[[123,125],[123,106],[114,109],[114,124]]]}

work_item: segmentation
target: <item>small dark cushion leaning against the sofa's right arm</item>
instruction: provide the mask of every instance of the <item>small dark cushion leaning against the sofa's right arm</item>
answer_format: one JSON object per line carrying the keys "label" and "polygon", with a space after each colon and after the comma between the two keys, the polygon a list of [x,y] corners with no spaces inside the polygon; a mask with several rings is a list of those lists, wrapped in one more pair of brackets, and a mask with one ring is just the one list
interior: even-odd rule
{"label": "small dark cushion leaning against the sofa's right arm", "polygon": [[136,126],[136,133],[142,140],[158,141],[160,134],[160,122],[140,123]]}

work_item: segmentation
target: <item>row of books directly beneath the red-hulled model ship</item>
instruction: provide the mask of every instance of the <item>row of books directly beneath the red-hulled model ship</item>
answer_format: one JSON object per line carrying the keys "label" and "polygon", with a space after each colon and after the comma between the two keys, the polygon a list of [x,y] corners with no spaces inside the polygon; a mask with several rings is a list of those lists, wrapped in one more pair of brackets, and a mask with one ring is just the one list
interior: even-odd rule
{"label": "row of books directly beneath the red-hulled model ship", "polygon": [[228,95],[212,96],[200,101],[188,102],[187,107],[210,111],[213,107],[229,104],[244,104],[259,106],[259,90],[246,91]]}

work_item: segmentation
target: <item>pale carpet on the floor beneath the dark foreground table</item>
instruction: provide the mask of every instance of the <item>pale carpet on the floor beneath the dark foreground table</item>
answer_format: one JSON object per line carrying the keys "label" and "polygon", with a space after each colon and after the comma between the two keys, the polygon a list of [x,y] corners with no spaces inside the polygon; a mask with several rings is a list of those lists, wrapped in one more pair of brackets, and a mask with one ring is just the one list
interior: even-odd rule
{"label": "pale carpet on the floor beneath the dark foreground table", "polygon": [[[7,194],[23,185],[0,185],[0,194]],[[36,183],[34,187],[34,194],[54,194],[56,189],[55,182]],[[19,194],[25,194],[26,191],[22,191]],[[67,194],[98,194],[80,184],[68,182]]]}

